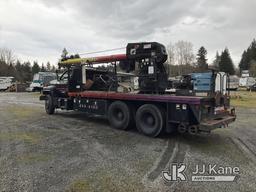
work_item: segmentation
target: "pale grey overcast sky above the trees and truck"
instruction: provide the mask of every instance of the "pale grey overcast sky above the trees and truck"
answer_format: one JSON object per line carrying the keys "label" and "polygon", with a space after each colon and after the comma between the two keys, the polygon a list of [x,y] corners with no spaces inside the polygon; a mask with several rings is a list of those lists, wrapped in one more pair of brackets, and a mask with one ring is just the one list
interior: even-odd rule
{"label": "pale grey overcast sky above the trees and truck", "polygon": [[256,37],[256,0],[0,0],[0,47],[22,61],[57,63],[128,42],[190,41],[194,52],[228,47],[235,64]]}

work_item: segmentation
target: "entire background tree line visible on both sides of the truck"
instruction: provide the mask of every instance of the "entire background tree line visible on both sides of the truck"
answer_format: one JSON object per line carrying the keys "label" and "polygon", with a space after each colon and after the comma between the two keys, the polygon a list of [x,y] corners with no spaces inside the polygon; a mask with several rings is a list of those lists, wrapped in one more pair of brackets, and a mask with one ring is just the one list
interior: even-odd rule
{"label": "entire background tree line visible on both sides of the truck", "polygon": [[[249,70],[250,74],[256,77],[256,40],[254,39],[249,47],[243,52],[238,68],[234,66],[230,51],[226,47],[219,53],[217,51],[213,62],[209,63],[207,49],[202,46],[194,54],[193,44],[188,41],[178,41],[167,46],[168,61],[165,66],[169,76],[178,76],[192,72],[203,72],[210,68],[239,75],[242,70]],[[38,72],[52,71],[56,68],[47,62],[46,65],[39,65],[34,61],[30,63],[15,60],[15,56],[9,49],[0,48],[0,76],[13,76],[19,82],[31,81],[33,75]]]}

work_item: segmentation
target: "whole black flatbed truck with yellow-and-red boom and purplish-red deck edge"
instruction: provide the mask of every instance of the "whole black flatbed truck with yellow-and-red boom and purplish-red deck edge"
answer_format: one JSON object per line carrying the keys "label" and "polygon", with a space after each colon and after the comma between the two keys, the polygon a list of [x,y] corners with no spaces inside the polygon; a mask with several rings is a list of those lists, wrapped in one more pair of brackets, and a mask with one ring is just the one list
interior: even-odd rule
{"label": "whole black flatbed truck with yellow-and-red boom and purplish-red deck edge", "polygon": [[[59,83],[44,87],[40,100],[45,100],[49,115],[55,109],[100,115],[116,129],[137,127],[151,137],[175,130],[208,133],[235,121],[228,75],[215,71],[193,74],[186,89],[170,94],[166,60],[166,49],[157,42],[129,43],[126,54],[92,58],[63,54],[59,67],[66,71]],[[121,77],[120,69],[124,71]],[[124,84],[126,73],[131,75]]]}

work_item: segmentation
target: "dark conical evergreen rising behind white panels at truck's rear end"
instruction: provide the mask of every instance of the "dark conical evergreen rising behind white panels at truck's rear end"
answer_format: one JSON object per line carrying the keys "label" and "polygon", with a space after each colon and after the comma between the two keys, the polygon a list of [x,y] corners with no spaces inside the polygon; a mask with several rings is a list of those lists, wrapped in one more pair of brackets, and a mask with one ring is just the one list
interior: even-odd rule
{"label": "dark conical evergreen rising behind white panels at truck's rear end", "polygon": [[229,73],[230,75],[235,74],[234,64],[231,59],[228,48],[226,48],[221,54],[220,62],[219,62],[219,70],[222,72]]}

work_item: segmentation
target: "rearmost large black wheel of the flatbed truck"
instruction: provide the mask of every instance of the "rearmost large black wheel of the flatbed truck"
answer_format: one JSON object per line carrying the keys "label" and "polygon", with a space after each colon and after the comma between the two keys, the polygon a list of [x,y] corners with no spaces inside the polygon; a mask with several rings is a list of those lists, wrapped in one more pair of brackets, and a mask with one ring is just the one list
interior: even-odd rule
{"label": "rearmost large black wheel of the flatbed truck", "polygon": [[152,104],[142,105],[136,112],[137,129],[150,137],[158,136],[165,125],[164,111]]}

